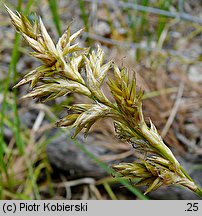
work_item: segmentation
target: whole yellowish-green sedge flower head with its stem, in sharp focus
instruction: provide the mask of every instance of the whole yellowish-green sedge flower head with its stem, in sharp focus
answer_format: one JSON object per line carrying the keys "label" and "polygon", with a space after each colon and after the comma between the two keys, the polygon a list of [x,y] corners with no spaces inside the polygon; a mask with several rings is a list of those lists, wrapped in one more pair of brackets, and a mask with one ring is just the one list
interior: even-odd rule
{"label": "whole yellowish-green sedge flower head with its stem, in sharp focus", "polygon": [[[164,144],[153,123],[150,121],[150,126],[145,123],[143,92],[137,90],[135,79],[130,81],[126,68],[119,68],[111,61],[105,63],[100,46],[90,52],[75,43],[83,29],[71,34],[68,26],[55,44],[40,18],[31,23],[21,13],[6,9],[16,30],[33,49],[31,55],[42,62],[15,86],[30,84],[31,91],[25,98],[48,101],[69,93],[87,96],[92,103],[67,107],[67,116],[57,126],[75,128],[75,137],[81,130],[87,134],[97,120],[112,118],[118,137],[144,155],[139,161],[114,165],[114,170],[124,178],[136,180],[137,185],[148,186],[145,193],[162,185],[178,184],[202,196],[201,189]],[[104,80],[113,102],[102,91]]]}

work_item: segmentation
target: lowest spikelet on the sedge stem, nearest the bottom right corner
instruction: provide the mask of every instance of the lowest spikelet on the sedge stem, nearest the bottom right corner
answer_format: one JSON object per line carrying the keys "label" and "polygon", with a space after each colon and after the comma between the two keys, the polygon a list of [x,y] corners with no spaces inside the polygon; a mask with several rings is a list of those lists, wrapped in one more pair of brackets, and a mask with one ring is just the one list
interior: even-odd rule
{"label": "lowest spikelet on the sedge stem, nearest the bottom right corner", "polygon": [[170,161],[162,157],[152,156],[141,162],[122,163],[114,165],[113,168],[123,177],[136,179],[136,186],[147,185],[145,194],[158,189],[162,185],[181,185],[197,190],[193,181],[175,172],[175,167]]}

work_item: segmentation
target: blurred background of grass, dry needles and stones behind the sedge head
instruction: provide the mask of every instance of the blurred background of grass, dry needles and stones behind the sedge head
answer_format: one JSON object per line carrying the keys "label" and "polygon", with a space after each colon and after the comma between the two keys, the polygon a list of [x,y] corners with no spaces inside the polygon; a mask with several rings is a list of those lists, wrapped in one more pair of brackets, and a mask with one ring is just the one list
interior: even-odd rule
{"label": "blurred background of grass, dry needles and stones behind the sedge head", "polygon": [[41,16],[54,41],[70,23],[72,32],[85,27],[82,46],[101,44],[106,61],[135,71],[146,120],[202,186],[202,1],[0,1],[0,199],[198,199],[177,186],[144,196],[144,188],[129,190],[113,178],[107,167],[132,162],[137,153],[117,139],[110,120],[86,139],[71,140],[71,131],[56,128],[64,105],[85,98],[20,99],[29,86],[12,87],[40,63],[15,33],[4,3],[31,21]]}

